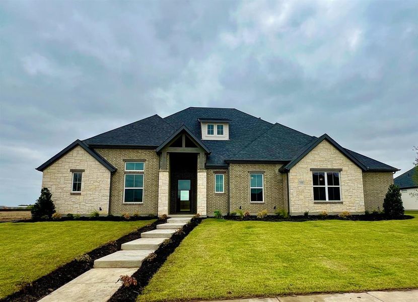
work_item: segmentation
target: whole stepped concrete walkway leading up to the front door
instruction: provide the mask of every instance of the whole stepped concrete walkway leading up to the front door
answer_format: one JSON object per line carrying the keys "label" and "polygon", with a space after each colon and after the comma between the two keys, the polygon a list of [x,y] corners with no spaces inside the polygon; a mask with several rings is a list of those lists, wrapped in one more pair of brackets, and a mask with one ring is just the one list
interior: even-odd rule
{"label": "whole stepped concrete walkway leading up to the front door", "polygon": [[122,249],[94,261],[94,268],[64,284],[39,301],[42,302],[106,302],[122,285],[119,276],[129,275],[141,267],[142,261],[190,221],[192,215],[167,219],[157,230],[141,234],[122,244]]}

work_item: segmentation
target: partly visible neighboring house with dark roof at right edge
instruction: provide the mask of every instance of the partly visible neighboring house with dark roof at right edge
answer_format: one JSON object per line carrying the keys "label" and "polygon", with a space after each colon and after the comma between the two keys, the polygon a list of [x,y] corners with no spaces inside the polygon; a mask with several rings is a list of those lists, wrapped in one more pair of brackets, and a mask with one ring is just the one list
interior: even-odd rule
{"label": "partly visible neighboring house with dark roof at right edge", "polygon": [[[418,184],[412,179],[415,173],[418,173],[418,167],[406,171],[393,181],[401,189],[402,203],[405,210],[418,210]],[[412,195],[411,193],[415,193],[416,195]]]}

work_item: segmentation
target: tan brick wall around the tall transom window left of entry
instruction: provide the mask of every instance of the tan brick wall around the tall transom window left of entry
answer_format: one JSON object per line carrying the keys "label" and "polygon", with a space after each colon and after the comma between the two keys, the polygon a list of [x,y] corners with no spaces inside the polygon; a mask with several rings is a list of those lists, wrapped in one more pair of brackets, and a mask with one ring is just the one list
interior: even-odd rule
{"label": "tan brick wall around the tall transom window left of entry", "polygon": [[[160,157],[154,149],[95,148],[117,171],[112,175],[110,213],[120,215],[139,211],[141,215],[158,214],[158,182]],[[144,202],[124,203],[123,191],[125,180],[124,160],[145,160]]]}

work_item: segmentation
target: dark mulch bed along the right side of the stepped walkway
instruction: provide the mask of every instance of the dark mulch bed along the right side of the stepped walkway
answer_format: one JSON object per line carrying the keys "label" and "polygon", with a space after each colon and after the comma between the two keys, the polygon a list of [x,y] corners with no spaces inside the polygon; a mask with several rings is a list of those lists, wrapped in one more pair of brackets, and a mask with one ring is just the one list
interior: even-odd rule
{"label": "dark mulch bed along the right side of the stepped walkway", "polygon": [[122,286],[109,299],[109,302],[115,301],[135,301],[136,297],[142,293],[145,286],[151,280],[153,275],[160,269],[167,257],[174,252],[180,245],[180,242],[198,225],[201,218],[193,217],[189,223],[183,226],[183,229],[177,231],[173,236],[166,240],[151,256],[148,256],[143,261],[140,269],[138,269],[132,276],[136,279],[136,285],[128,287]]}

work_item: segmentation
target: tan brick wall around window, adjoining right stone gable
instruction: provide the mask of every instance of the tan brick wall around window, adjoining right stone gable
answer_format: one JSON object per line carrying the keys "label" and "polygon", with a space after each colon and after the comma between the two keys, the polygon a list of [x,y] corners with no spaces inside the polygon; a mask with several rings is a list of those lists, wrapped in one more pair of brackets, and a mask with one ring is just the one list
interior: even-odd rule
{"label": "tan brick wall around window, adjoining right stone gable", "polygon": [[[231,163],[229,165],[230,211],[242,207],[242,211],[251,214],[266,209],[273,214],[276,209],[287,208],[287,192],[285,190],[286,175],[278,172],[281,164]],[[250,202],[250,171],[264,171],[264,202]]]}

